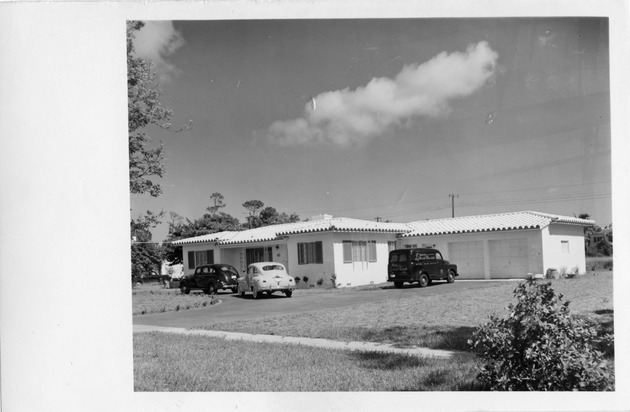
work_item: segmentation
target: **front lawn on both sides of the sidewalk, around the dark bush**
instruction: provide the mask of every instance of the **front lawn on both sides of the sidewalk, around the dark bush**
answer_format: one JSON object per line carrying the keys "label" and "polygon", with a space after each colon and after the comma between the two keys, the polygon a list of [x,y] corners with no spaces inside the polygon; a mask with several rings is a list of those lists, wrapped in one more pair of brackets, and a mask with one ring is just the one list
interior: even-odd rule
{"label": "front lawn on both sides of the sidewalk, around the dark bush", "polygon": [[[613,332],[612,272],[551,283],[571,302],[574,315],[589,318],[602,332]],[[202,328],[468,350],[466,341],[476,326],[487,322],[490,314],[506,316],[515,287],[515,282],[497,282],[442,296],[411,296],[252,322],[209,323]],[[605,353],[614,358],[612,347]],[[484,389],[475,379],[478,366],[469,357],[417,358],[134,334],[136,391],[478,391]]]}

